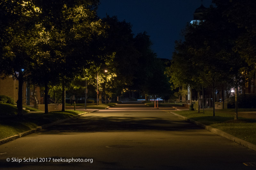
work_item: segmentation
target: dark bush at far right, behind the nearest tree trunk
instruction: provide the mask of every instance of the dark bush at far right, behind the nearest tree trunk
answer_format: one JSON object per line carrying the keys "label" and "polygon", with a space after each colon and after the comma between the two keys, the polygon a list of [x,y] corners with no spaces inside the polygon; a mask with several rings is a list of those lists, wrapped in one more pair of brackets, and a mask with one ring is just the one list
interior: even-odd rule
{"label": "dark bush at far right, behind the nearest tree trunk", "polygon": [[[238,108],[256,108],[256,96],[255,94],[239,94],[238,95]],[[228,108],[235,108],[235,96],[229,98]]]}

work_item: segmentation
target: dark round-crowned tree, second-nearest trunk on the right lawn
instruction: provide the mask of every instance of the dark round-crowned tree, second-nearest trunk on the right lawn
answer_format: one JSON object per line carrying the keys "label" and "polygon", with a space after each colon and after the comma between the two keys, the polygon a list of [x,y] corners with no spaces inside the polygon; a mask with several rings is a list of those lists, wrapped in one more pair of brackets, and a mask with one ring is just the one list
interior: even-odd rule
{"label": "dark round-crowned tree, second-nearest trunk on the right lawn", "polygon": [[[198,91],[202,83],[212,87],[213,116],[215,116],[215,89],[223,82],[230,82],[234,77],[236,84],[241,81],[239,74],[243,62],[232,50],[236,33],[238,33],[236,27],[222,17],[221,10],[211,7],[204,22],[186,27],[185,41],[177,45],[176,49],[179,53],[173,55],[176,62],[171,66],[172,82],[178,80],[177,82],[194,86]],[[184,64],[183,60],[189,61],[191,65]],[[175,73],[174,69],[180,72]]]}

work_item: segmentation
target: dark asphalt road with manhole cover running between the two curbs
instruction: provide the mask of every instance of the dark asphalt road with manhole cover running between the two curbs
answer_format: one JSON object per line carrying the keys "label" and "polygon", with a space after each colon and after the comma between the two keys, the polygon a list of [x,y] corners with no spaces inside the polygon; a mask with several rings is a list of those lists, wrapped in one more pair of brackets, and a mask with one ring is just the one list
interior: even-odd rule
{"label": "dark asphalt road with manhole cover running between the two curbs", "polygon": [[141,103],[122,103],[0,145],[1,170],[256,170],[243,164],[253,162],[255,151]]}

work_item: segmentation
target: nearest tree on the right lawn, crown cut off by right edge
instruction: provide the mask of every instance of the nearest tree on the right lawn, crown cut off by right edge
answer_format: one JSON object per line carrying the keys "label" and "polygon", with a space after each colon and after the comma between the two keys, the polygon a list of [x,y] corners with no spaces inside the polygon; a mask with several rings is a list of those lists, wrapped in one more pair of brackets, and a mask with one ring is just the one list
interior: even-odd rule
{"label": "nearest tree on the right lawn, crown cut off by right edge", "polygon": [[[242,59],[242,61],[239,62],[240,68],[237,69],[239,71],[237,71],[235,78],[237,87],[239,82],[241,82],[240,78],[243,77],[241,75],[242,72],[248,79],[256,75],[256,17],[254,12],[256,4],[253,0],[232,0],[228,2],[213,0],[213,2],[216,3],[218,8],[222,11],[223,18],[235,24],[235,27],[239,30],[233,47],[233,51],[238,53]],[[243,63],[243,61],[245,61],[246,64]],[[237,97],[235,103],[235,119],[237,119]]]}

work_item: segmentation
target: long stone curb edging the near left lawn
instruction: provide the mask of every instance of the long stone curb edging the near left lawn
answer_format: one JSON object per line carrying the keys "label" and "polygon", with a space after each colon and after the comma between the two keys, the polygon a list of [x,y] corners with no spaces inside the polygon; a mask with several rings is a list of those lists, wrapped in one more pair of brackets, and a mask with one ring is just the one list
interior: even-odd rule
{"label": "long stone curb edging the near left lawn", "polygon": [[[92,112],[96,112],[96,111],[99,111],[99,110],[93,110]],[[88,112],[88,113],[92,113],[92,112]],[[18,135],[14,135],[14,136],[11,136],[11,137],[6,137],[6,138],[0,140],[0,145],[8,143],[8,142],[11,142],[11,141],[13,141],[15,139],[18,139],[20,137],[24,137],[24,136],[27,136],[29,134],[35,133],[35,132],[37,132],[39,130],[46,129],[46,128],[50,127],[50,126],[53,126],[53,125],[65,122],[65,121],[67,121],[69,119],[77,118],[77,117],[79,117],[81,115],[84,115],[84,114],[87,114],[87,113],[83,113],[83,114],[80,114],[80,115],[72,116],[72,117],[66,118],[66,119],[57,120],[57,121],[52,122],[52,123],[48,123],[48,124],[45,124],[45,125],[42,125],[42,126],[38,126],[38,127],[34,128],[34,129],[30,129],[30,130],[27,130],[25,132],[21,132]]]}

